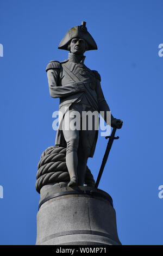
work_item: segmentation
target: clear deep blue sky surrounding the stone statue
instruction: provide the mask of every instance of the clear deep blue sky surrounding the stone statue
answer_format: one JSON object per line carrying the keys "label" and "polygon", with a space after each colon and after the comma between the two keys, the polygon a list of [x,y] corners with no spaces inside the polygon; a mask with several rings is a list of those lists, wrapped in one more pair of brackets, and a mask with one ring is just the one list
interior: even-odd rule
{"label": "clear deep blue sky surrounding the stone statue", "polygon": [[[85,64],[101,74],[112,114],[124,121],[99,188],[113,199],[123,245],[163,245],[163,2],[5,0],[0,8],[0,244],[35,244],[37,163],[54,145],[52,113],[59,103],[49,95],[45,68],[49,60],[67,58],[59,42],[86,21],[98,51],[86,52]],[[98,138],[88,163],[95,178],[106,143]]]}

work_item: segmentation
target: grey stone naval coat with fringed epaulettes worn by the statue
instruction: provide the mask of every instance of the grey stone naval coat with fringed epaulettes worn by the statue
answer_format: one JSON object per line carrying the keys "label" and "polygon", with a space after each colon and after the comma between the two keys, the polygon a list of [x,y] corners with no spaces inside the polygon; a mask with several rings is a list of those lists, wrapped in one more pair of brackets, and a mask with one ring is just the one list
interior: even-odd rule
{"label": "grey stone naval coat with fringed epaulettes worn by the statue", "polygon": [[[68,59],[64,62],[52,60],[47,65],[49,93],[54,98],[60,98],[59,111],[62,112],[63,119],[66,109],[70,108],[72,103],[89,105],[93,111],[110,111],[102,92],[101,76],[97,71],[87,68],[84,59],[85,56],[81,58],[69,53]],[[106,115],[103,118],[106,121]],[[96,139],[92,142],[90,157],[93,157],[95,152],[97,137],[98,130]],[[67,147],[62,132],[62,120],[59,123],[55,145]]]}

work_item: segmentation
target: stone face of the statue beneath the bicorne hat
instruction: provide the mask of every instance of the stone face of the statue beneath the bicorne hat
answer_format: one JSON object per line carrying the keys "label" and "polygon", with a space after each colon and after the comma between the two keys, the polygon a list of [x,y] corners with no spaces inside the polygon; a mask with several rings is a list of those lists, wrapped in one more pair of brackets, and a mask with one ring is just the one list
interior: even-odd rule
{"label": "stone face of the statue beneath the bicorne hat", "polygon": [[73,38],[70,43],[70,52],[74,54],[83,54],[86,50],[86,42],[82,38]]}

